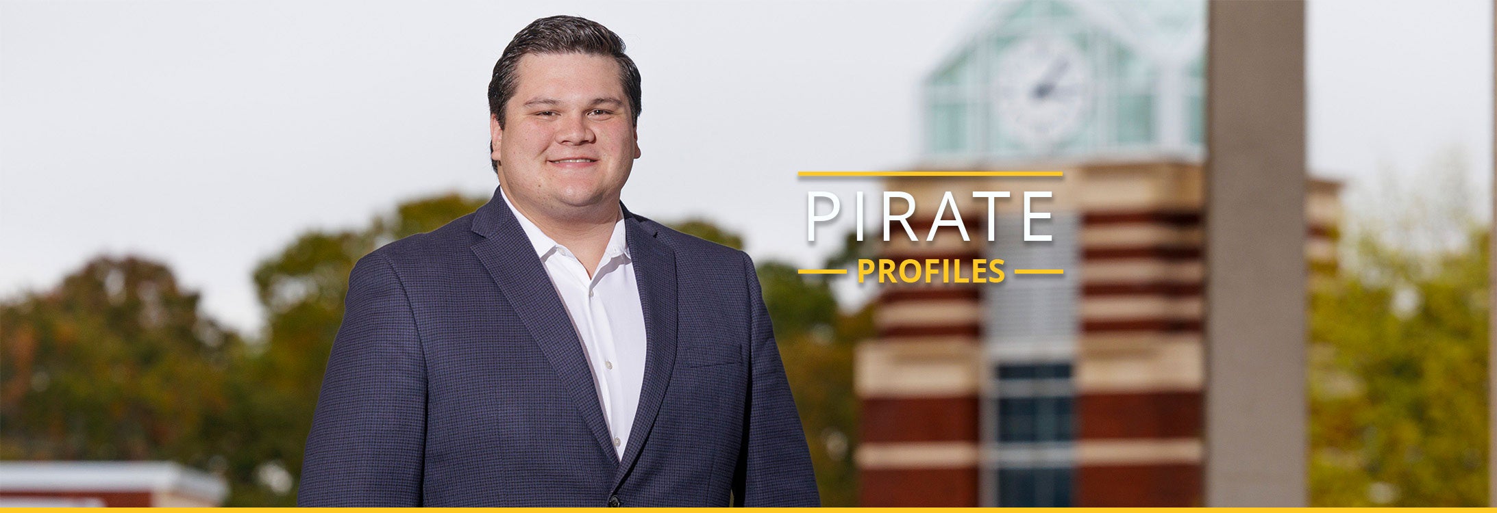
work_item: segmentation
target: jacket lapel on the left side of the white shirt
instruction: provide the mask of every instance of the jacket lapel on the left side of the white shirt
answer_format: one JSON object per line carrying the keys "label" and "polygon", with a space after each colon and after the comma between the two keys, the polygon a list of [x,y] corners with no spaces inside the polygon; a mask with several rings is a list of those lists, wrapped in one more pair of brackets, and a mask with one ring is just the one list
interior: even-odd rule
{"label": "jacket lapel on the left side of the white shirt", "polygon": [[[603,407],[593,386],[593,371],[582,351],[582,340],[578,338],[572,317],[567,316],[561,298],[551,284],[551,277],[536,257],[534,247],[499,194],[499,188],[494,188],[494,197],[473,215],[473,232],[485,236],[473,245],[473,253],[484,262],[490,277],[499,284],[500,295],[515,308],[530,337],[546,354],[551,368],[561,378],[561,386],[567,389],[582,420],[597,438],[599,447],[609,458],[618,459],[608,423],[603,420]],[[645,363],[645,375],[651,363]]]}

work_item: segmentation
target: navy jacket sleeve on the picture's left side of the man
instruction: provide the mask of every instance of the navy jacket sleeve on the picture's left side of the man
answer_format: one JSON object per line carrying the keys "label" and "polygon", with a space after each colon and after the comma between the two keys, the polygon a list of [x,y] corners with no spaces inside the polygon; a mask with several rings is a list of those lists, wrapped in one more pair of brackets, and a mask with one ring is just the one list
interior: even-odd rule
{"label": "navy jacket sleeve on the picture's left side of the man", "polygon": [[404,286],[380,251],[349,275],[298,506],[421,506],[427,371]]}

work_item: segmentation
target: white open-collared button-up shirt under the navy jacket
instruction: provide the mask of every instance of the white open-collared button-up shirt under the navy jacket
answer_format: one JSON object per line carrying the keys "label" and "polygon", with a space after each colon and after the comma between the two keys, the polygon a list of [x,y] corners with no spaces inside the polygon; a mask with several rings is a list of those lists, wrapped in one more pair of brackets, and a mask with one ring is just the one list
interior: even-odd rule
{"label": "white open-collared button-up shirt under the navy jacket", "polygon": [[615,453],[623,459],[629,431],[635,425],[635,410],[639,408],[639,387],[645,380],[645,314],[639,305],[635,263],[624,241],[624,221],[620,218],[614,224],[603,259],[593,277],[588,277],[587,268],[570,250],[515,209],[503,188],[500,194],[536,247],[536,256],[546,268],[551,284],[582,340],[603,419],[612,432]]}

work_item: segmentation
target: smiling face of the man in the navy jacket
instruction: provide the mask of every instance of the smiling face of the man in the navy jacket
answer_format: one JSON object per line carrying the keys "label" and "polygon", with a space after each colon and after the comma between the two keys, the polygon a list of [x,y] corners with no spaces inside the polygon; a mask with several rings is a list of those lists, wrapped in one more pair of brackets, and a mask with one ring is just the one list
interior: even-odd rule
{"label": "smiling face of the man in the navy jacket", "polygon": [[504,127],[490,120],[504,191],[530,215],[617,215],[639,159],[618,63],[606,55],[528,54],[515,67]]}

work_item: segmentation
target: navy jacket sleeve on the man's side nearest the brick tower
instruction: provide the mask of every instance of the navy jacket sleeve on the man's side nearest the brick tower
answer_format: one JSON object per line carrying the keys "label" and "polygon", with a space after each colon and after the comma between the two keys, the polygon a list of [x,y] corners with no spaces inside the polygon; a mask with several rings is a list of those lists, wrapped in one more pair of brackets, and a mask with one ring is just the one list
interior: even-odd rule
{"label": "navy jacket sleeve on the man's side nearest the brick tower", "polygon": [[801,416],[784,378],[780,348],[769,325],[769,310],[753,262],[748,268],[748,413],[744,450],[734,476],[734,503],[746,507],[817,507],[816,474],[805,447]]}

